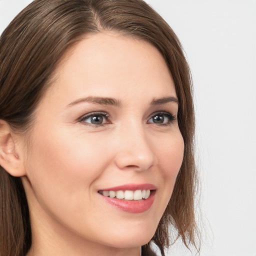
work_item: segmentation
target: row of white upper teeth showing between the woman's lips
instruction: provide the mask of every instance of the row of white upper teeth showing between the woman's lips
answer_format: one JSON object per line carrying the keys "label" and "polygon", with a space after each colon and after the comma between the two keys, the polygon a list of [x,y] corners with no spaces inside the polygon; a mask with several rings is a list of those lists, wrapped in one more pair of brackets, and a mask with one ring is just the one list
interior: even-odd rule
{"label": "row of white upper teeth showing between the woman's lips", "polygon": [[141,199],[146,199],[150,195],[150,190],[149,189],[143,189],[143,190],[118,190],[118,191],[107,191],[107,190],[100,190],[100,194],[110,197],[110,198],[118,198],[118,199],[125,199],[125,200],[141,200]]}

